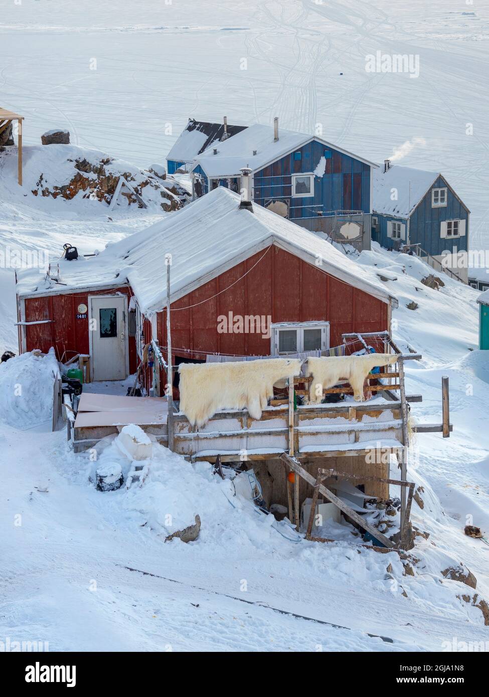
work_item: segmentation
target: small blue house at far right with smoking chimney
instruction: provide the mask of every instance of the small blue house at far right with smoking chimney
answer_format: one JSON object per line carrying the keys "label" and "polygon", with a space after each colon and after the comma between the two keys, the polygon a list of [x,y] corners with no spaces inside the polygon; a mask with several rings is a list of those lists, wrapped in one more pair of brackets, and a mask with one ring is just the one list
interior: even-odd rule
{"label": "small blue house at far right with smoking chimney", "polygon": [[375,171],[372,239],[386,249],[411,245],[437,270],[450,252],[453,263],[448,268],[465,283],[467,263],[457,263],[456,254],[469,249],[469,215],[439,172],[400,167],[389,160]]}

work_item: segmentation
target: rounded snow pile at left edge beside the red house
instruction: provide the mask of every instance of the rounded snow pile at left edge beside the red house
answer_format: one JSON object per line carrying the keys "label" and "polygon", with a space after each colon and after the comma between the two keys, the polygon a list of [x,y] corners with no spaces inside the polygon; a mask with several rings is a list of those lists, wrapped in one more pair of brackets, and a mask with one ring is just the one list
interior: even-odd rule
{"label": "rounded snow pile at left edge beside the red house", "polygon": [[57,372],[52,349],[47,355],[24,353],[0,363],[0,422],[17,429],[51,424]]}

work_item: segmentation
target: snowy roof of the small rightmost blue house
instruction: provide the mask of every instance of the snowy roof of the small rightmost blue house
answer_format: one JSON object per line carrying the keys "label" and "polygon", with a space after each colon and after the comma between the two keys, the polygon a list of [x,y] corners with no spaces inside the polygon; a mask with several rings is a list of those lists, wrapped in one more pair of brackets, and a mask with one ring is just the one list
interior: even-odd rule
{"label": "snowy roof of the small rightmost blue house", "polygon": [[[373,174],[374,213],[408,217],[438,177],[438,172],[401,167],[399,164],[391,164],[386,172],[379,167]],[[391,199],[392,189],[397,189],[396,201]]]}

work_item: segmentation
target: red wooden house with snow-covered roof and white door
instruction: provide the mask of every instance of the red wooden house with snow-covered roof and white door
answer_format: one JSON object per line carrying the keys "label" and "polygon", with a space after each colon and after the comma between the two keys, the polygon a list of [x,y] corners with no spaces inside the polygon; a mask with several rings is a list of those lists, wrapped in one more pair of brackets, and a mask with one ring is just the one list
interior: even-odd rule
{"label": "red wooden house with snow-covered roof and white door", "polygon": [[[95,380],[135,372],[151,339],[167,360],[165,258],[173,365],[324,350],[345,333],[390,330],[397,305],[326,240],[219,187],[97,256],[20,274],[20,351],[89,354]],[[162,378],[146,368],[146,388],[163,393]]]}

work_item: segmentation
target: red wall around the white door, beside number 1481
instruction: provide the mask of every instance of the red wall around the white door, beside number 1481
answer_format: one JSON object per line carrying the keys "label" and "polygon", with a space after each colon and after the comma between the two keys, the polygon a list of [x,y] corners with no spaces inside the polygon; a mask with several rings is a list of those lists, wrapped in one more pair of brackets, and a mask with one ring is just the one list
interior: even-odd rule
{"label": "red wall around the white door, beside number 1481", "polygon": [[[125,293],[129,302],[132,293],[128,287],[110,291],[90,291],[90,295],[109,295],[117,292]],[[54,320],[49,324],[33,324],[25,328],[27,351],[40,348],[43,353],[47,353],[51,346],[54,346],[58,360],[61,359],[63,351],[71,352],[68,353],[66,360],[73,358],[75,353],[89,353],[88,312],[85,319],[77,319],[77,307],[80,303],[88,307],[89,293],[27,298],[25,300],[26,322]],[[135,337],[129,337],[129,369],[131,373],[136,369]]]}

